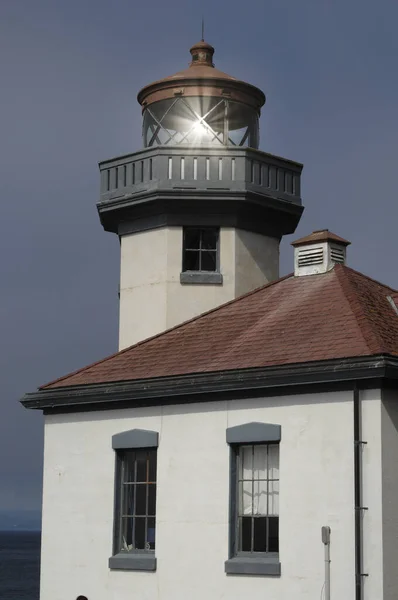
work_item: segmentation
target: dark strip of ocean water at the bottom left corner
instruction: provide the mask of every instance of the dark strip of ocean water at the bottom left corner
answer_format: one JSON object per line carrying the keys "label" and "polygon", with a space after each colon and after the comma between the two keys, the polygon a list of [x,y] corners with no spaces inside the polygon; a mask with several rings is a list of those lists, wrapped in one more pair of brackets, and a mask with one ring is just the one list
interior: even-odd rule
{"label": "dark strip of ocean water at the bottom left corner", "polygon": [[0,531],[0,600],[39,600],[40,532]]}

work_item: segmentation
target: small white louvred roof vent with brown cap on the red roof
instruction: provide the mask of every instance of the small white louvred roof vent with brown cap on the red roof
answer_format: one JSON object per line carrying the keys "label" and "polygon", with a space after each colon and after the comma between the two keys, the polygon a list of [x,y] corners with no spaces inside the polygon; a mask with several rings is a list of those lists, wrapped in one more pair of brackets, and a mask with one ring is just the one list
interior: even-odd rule
{"label": "small white louvred roof vent with brown cap on the red roof", "polygon": [[333,269],[336,263],[345,265],[348,240],[319,229],[292,243],[294,247],[294,274],[317,275]]}

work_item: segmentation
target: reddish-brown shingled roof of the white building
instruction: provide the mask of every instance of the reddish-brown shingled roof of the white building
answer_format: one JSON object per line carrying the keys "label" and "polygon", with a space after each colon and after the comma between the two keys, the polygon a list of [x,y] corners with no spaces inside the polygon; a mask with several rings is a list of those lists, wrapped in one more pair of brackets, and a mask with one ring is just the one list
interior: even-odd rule
{"label": "reddish-brown shingled roof of the white building", "polygon": [[336,265],[279,279],[40,389],[398,355],[397,292]]}

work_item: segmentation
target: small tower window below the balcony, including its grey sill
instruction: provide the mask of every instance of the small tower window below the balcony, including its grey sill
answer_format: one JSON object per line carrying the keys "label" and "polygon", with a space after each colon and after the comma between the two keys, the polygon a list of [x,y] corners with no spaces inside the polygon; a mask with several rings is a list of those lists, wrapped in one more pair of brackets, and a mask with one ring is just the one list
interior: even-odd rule
{"label": "small tower window below the balcony, including its grey sill", "polygon": [[220,228],[182,228],[181,283],[222,284]]}

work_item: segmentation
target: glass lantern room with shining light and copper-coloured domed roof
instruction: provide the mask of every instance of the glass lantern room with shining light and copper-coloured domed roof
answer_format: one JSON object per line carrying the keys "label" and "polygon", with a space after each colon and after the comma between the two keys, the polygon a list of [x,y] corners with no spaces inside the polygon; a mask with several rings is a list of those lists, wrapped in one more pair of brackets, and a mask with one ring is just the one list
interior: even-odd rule
{"label": "glass lantern room with shining light and copper-coloured domed roof", "polygon": [[138,94],[144,146],[257,149],[263,92],[216,69],[214,48],[203,40],[190,52],[188,69],[155,81]]}

